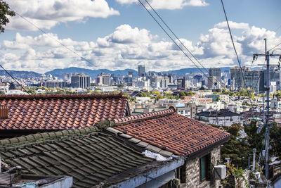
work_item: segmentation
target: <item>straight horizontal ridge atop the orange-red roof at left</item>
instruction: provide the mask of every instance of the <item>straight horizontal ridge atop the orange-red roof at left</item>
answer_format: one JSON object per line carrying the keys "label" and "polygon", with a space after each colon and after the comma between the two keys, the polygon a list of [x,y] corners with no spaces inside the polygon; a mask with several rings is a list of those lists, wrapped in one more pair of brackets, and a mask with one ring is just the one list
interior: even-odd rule
{"label": "straight horizontal ridge atop the orange-red roof at left", "polygon": [[120,98],[123,96],[122,92],[119,94],[1,94],[0,99],[85,99],[85,98]]}

